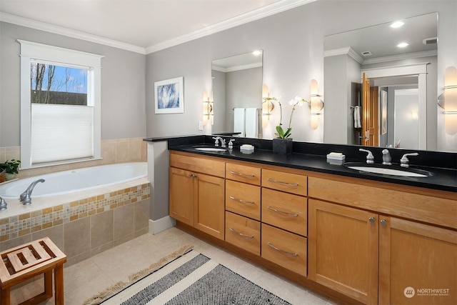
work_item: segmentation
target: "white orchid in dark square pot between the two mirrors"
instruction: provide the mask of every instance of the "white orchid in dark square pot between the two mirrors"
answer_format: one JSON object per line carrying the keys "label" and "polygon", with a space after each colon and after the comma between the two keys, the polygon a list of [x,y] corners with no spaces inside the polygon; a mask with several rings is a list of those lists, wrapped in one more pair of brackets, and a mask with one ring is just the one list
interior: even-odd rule
{"label": "white orchid in dark square pot between the two mirrors", "polygon": [[280,119],[279,119],[279,125],[276,126],[276,138],[273,139],[273,152],[276,152],[278,154],[291,154],[292,152],[292,144],[293,141],[291,139],[292,135],[292,116],[293,116],[293,111],[295,111],[296,106],[303,106],[303,103],[308,103],[306,99],[302,99],[300,96],[296,96],[295,99],[291,99],[288,101],[288,104],[292,106],[292,111],[291,111],[291,117],[288,120],[288,127],[286,131],[283,129],[283,107],[281,105],[281,101],[277,100],[279,104],[279,112],[280,112]]}

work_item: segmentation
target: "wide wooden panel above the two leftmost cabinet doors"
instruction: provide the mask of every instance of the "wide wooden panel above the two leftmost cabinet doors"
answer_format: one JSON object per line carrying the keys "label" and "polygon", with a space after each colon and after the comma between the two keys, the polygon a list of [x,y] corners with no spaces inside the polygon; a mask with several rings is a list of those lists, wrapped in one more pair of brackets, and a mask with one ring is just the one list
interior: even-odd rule
{"label": "wide wooden panel above the two leftmost cabinet doors", "polygon": [[226,166],[223,161],[205,158],[204,156],[184,156],[181,154],[170,154],[170,166],[188,171],[198,171],[199,173],[211,176],[225,177]]}

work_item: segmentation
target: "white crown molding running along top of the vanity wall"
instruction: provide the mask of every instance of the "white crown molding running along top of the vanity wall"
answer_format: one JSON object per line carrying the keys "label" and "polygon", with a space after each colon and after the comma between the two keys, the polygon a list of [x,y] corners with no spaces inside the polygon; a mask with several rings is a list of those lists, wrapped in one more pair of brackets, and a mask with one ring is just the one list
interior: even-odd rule
{"label": "white crown molding running along top of the vanity wall", "polygon": [[177,46],[179,44],[184,44],[185,42],[192,41],[194,39],[199,39],[204,36],[209,36],[215,34],[219,31],[224,31],[226,29],[231,29],[235,26],[240,26],[242,24],[247,24],[251,21],[256,21],[267,16],[281,13],[282,11],[287,11],[288,9],[296,8],[297,6],[302,6],[318,0],[282,0],[276,3],[270,4],[268,6],[263,6],[260,9],[255,11],[250,11],[246,14],[236,16],[232,19],[219,22],[212,26],[207,26],[204,29],[198,31],[193,31],[189,34],[176,37],[175,39],[170,39],[159,44],[154,44],[146,48],[146,54],[151,54],[156,51],[170,48],[171,46]]}

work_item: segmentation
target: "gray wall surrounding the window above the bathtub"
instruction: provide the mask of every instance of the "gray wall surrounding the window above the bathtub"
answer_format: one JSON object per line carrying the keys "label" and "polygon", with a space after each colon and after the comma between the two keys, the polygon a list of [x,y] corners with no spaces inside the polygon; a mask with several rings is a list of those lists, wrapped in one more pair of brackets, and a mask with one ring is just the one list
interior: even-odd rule
{"label": "gray wall surrounding the window above the bathtub", "polygon": [[1,22],[0,147],[20,145],[21,52],[16,39],[105,56],[101,59],[101,139],[146,136],[146,56]]}

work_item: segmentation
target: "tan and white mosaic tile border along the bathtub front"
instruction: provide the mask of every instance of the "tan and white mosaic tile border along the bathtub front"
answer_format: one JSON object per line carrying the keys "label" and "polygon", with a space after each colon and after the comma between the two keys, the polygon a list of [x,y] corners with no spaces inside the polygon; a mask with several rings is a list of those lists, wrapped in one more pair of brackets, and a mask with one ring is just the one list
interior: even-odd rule
{"label": "tan and white mosaic tile border along the bathtub front", "polygon": [[66,224],[76,219],[116,209],[137,201],[149,199],[150,184],[132,186],[107,194],[59,204],[39,211],[0,219],[0,241],[15,239],[36,231]]}

